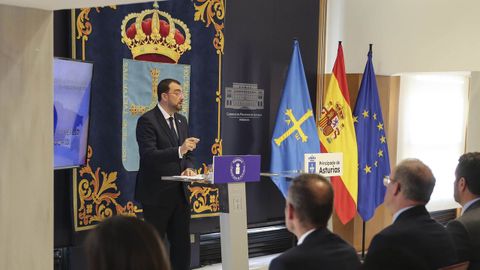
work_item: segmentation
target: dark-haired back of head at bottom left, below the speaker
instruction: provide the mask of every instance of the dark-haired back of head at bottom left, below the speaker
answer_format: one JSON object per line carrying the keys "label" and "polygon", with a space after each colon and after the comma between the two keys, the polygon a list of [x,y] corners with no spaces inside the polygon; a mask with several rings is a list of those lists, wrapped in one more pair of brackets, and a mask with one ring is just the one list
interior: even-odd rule
{"label": "dark-haired back of head at bottom left, below the speaker", "polygon": [[114,216],[87,236],[89,270],[170,270],[170,262],[152,225],[135,217]]}

